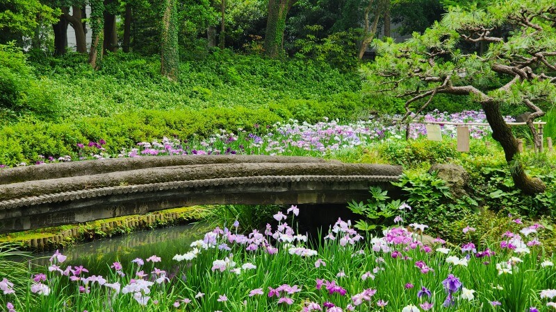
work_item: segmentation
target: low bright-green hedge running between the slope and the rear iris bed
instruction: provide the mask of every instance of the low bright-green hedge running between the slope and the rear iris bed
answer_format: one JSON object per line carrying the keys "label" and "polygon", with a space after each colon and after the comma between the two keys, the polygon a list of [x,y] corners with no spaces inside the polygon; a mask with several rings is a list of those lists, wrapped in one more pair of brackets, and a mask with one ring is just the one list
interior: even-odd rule
{"label": "low bright-green hedge running between the slope and the rear iris bed", "polygon": [[[164,79],[164,78],[163,78]],[[199,89],[202,92],[202,89]],[[207,94],[206,96],[210,96]],[[297,102],[275,103],[269,108],[208,107],[181,110],[137,110],[112,116],[83,116],[56,122],[38,119],[22,120],[0,129],[0,164],[15,166],[21,162],[34,163],[44,157],[81,157],[77,144],[104,139],[106,153],[117,155],[120,148],[132,148],[140,141],[162,137],[177,137],[182,141],[208,137],[221,129],[236,132],[238,128],[258,132],[278,121],[304,117],[322,121],[325,116],[349,118],[357,110],[355,97],[342,95],[336,102],[306,101],[304,110]],[[338,103],[338,105],[334,105]],[[312,105],[312,106],[311,106]],[[304,114],[304,115],[302,115]],[[304,119],[301,119],[304,120]]]}

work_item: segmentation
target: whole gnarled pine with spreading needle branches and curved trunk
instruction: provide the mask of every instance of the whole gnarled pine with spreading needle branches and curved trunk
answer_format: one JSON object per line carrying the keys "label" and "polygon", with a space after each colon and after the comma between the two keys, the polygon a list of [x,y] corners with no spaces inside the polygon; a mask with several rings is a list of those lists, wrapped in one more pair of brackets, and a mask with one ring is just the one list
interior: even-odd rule
{"label": "whole gnarled pine with spreading needle branches and curved trunk", "polygon": [[[504,30],[509,30],[504,31]],[[485,43],[482,55],[464,53],[461,42]],[[471,96],[480,103],[505,151],[516,187],[525,193],[546,186],[530,178],[518,160],[518,143],[500,105],[524,105],[534,143],[541,144],[532,122],[541,107],[556,101],[556,3],[553,0],[498,1],[485,9],[451,8],[441,22],[407,42],[375,40],[379,57],[364,67],[370,91],[405,98],[406,114],[421,112],[436,94]]]}

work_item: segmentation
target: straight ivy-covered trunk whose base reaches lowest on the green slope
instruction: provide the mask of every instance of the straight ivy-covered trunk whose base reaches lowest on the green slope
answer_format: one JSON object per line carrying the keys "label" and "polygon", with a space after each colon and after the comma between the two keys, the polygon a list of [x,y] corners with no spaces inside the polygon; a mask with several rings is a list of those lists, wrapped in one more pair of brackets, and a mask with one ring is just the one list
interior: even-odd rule
{"label": "straight ivy-covered trunk whose base reaches lowest on the green slope", "polygon": [[161,73],[170,80],[179,75],[178,14],[176,0],[163,0]]}

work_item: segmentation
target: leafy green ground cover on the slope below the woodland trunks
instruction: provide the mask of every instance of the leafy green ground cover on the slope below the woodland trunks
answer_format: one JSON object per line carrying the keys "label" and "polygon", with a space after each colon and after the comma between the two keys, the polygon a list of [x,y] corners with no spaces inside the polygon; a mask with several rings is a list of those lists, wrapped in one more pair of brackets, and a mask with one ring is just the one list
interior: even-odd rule
{"label": "leafy green ground cover on the slope below the woodland trunks", "polygon": [[211,106],[265,108],[290,99],[344,101],[343,96],[334,97],[340,93],[360,98],[356,73],[342,73],[322,62],[268,60],[231,51],[182,62],[180,83],[160,76],[158,56],[110,54],[99,63],[98,71],[88,67],[83,55],[75,53],[63,58],[37,55],[31,64],[38,75],[49,77],[54,84],[51,89],[63,91],[57,102],[68,118]]}

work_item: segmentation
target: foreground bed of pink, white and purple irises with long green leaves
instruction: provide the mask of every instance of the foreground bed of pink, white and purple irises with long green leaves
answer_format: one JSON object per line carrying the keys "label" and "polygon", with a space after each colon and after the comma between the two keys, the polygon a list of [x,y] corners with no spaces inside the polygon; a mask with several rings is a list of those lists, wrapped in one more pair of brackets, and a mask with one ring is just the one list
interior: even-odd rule
{"label": "foreground bed of pink, white and purple irises with long green leaves", "polygon": [[[539,223],[512,220],[519,231],[464,245],[424,239],[427,225],[398,225],[361,236],[338,220],[322,239],[296,233],[292,206],[277,228],[216,227],[173,259],[156,255],[107,263],[105,276],[65,266],[3,279],[3,306],[13,311],[550,311],[555,268],[543,252]],[[508,225],[510,228],[511,225]],[[45,310],[46,309],[46,310]]]}

